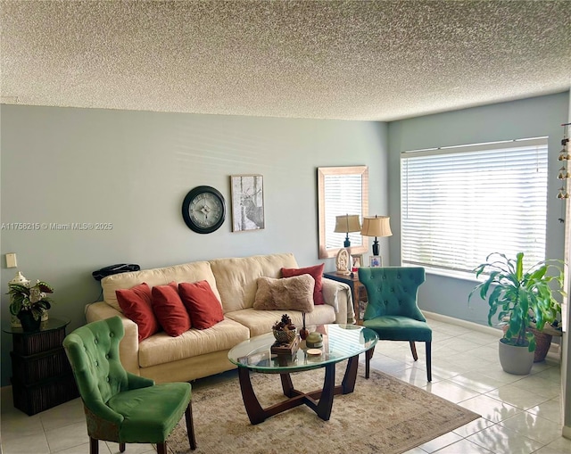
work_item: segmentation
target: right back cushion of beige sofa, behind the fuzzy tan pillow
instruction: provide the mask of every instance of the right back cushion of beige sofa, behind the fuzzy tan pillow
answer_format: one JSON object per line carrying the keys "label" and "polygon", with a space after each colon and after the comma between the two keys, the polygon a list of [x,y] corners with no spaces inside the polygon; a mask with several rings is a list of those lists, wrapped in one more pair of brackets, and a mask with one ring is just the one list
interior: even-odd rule
{"label": "right back cushion of beige sofa, behind the fuzzy tan pillow", "polygon": [[252,308],[258,277],[281,277],[281,268],[297,268],[294,254],[254,255],[211,260],[224,313]]}

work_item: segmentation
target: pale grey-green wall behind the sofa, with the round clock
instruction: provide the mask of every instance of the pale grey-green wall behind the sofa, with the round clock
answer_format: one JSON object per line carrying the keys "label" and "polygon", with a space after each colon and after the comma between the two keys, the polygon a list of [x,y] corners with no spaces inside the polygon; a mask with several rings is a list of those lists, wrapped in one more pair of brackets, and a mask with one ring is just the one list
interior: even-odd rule
{"label": "pale grey-green wall behind the sofa, with the round clock", "polygon": [[[368,165],[369,210],[388,210],[386,125],[145,111],[2,105],[1,221],[109,222],[111,231],[2,230],[2,320],[8,321],[4,254],[16,252],[29,279],[54,285],[52,317],[85,323],[100,299],[91,277],[119,262],[154,268],[193,260],[294,252],[318,263],[317,168]],[[264,177],[266,228],[211,235],[180,214],[194,186],[230,199],[229,176]],[[325,260],[335,268],[335,260]],[[9,384],[11,339],[2,337],[2,385]]]}

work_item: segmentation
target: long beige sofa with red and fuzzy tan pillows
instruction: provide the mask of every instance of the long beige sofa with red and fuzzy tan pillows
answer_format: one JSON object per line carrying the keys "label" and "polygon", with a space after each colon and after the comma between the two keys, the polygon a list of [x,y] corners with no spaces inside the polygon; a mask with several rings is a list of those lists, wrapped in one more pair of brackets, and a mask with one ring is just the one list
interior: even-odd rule
{"label": "long beige sofa with red and fuzzy tan pillows", "polygon": [[[134,374],[157,383],[190,381],[232,369],[228,351],[252,336],[269,333],[271,326],[287,313],[302,326],[302,312],[295,310],[254,310],[258,277],[281,277],[281,268],[299,268],[291,253],[258,255],[239,259],[197,261],[166,268],[145,269],[104,277],[103,300],[87,306],[87,322],[119,315],[125,327],[120,343],[123,366]],[[219,298],[224,320],[211,328],[191,328],[171,337],[164,332],[138,342],[137,324],[125,317],[115,291],[146,282],[149,286],[172,281],[206,280]],[[323,279],[324,305],[306,314],[307,325],[354,323],[351,290],[347,285]]]}

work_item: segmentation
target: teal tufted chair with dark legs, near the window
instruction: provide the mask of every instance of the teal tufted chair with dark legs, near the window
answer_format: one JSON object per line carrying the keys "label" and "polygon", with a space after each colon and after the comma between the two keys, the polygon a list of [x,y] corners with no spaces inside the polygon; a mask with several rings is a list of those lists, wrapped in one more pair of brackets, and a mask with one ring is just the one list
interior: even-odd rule
{"label": "teal tufted chair with dark legs, near the window", "polygon": [[[363,325],[377,332],[380,340],[409,341],[412,357],[418,359],[415,342],[426,343],[426,378],[432,381],[430,346],[432,330],[418,309],[418,286],[425,282],[425,268],[359,268],[359,280],[367,289],[368,305]],[[374,349],[367,351],[365,376]]]}

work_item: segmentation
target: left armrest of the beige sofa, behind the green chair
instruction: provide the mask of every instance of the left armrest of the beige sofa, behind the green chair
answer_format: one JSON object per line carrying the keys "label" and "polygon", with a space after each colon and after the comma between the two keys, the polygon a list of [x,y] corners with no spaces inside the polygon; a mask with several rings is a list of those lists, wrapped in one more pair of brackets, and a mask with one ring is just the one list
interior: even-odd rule
{"label": "left armrest of the beige sofa, behind the green chair", "polygon": [[139,328],[137,324],[125,317],[122,312],[112,308],[104,301],[88,304],[86,308],[87,323],[119,316],[123,322],[125,334],[119,344],[121,364],[131,374],[139,376]]}

